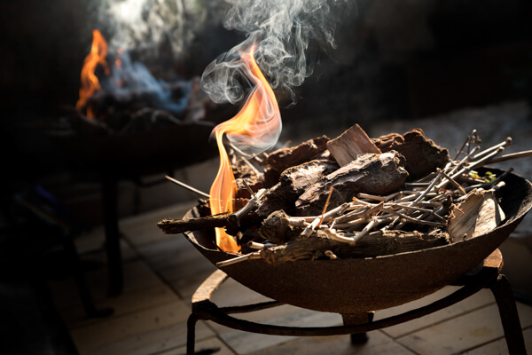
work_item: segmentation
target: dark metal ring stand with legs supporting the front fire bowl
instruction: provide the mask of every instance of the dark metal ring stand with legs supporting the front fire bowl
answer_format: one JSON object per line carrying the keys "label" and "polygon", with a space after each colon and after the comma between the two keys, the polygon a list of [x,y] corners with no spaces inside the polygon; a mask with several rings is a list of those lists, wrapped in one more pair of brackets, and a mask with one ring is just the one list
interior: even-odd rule
{"label": "dark metal ring stand with legs supporting the front fire bowl", "polygon": [[210,301],[215,290],[228,278],[225,272],[218,270],[205,280],[192,296],[192,314],[187,323],[187,354],[194,354],[195,328],[198,320],[212,320],[225,327],[246,332],[266,335],[287,336],[324,336],[351,335],[352,343],[364,341],[365,332],[391,327],[426,314],[442,310],[456,304],[469,296],[473,296],[482,288],[490,288],[497,301],[501,322],[505,330],[506,343],[511,355],[526,354],[524,338],[520,327],[519,314],[512,288],[505,275],[501,273],[503,256],[496,249],[484,259],[473,272],[469,272],[454,282],[453,286],[461,286],[453,294],[445,296],[432,304],[399,315],[372,321],[372,312],[365,314],[342,314],[343,326],[337,327],[284,327],[259,324],[244,319],[231,317],[229,314],[261,311],[282,305],[278,301],[260,304],[246,304],[232,307],[218,307]]}

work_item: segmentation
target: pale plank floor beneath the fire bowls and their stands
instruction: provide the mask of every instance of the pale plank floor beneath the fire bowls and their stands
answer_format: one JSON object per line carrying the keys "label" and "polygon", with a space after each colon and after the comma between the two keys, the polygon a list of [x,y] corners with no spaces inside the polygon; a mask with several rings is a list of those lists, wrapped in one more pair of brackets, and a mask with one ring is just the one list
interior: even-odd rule
{"label": "pale plank floor beneath the fire bowls and their stands", "polygon": [[[182,217],[194,202],[160,209],[121,220],[124,256],[124,291],[106,296],[106,264],[103,229],[76,240],[82,259],[93,267],[87,272],[98,307],[113,307],[112,316],[87,319],[74,281],[51,281],[55,303],[74,343],[82,355],[180,355],[185,353],[186,319],[191,296],[200,283],[215,271],[181,235],[165,235],[156,223],[164,217]],[[395,309],[376,313],[376,319],[428,304],[447,295],[444,288],[433,296]],[[246,304],[264,296],[228,280],[215,293],[217,304]],[[521,326],[532,353],[532,307],[518,304]],[[245,319],[287,326],[340,325],[340,316],[311,312],[284,305],[246,314]],[[489,290],[421,319],[373,331],[368,343],[351,345],[348,335],[328,337],[285,337],[256,335],[212,322],[197,326],[196,350],[215,354],[505,354],[507,353],[497,305]]]}

